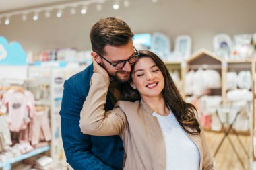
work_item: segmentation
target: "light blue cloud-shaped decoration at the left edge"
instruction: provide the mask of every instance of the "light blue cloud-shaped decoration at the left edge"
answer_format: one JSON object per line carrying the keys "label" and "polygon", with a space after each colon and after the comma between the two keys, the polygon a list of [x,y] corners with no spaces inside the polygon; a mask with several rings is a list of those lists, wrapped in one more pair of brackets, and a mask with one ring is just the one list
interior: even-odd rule
{"label": "light blue cloud-shaped decoration at the left edge", "polygon": [[27,54],[19,42],[9,44],[0,36],[0,65],[27,65]]}

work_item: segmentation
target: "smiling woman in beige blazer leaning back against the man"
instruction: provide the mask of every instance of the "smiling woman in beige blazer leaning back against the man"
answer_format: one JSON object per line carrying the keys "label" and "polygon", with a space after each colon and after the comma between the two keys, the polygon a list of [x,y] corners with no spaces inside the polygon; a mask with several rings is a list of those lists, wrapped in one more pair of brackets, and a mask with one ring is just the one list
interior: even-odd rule
{"label": "smiling woman in beige blazer leaning back against the man", "polygon": [[[93,60],[91,87],[80,128],[96,136],[119,135],[126,151],[124,169],[215,169],[195,107],[183,101],[164,62],[142,50],[126,90],[105,112],[108,73]],[[106,148],[107,149],[107,148]]]}

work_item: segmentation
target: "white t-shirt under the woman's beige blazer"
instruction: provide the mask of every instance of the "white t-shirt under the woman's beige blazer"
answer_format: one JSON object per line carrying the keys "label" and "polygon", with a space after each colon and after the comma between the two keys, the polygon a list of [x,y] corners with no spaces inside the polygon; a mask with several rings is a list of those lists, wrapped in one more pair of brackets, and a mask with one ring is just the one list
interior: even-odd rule
{"label": "white t-shirt under the woman's beige blazer", "polygon": [[200,153],[191,138],[181,128],[174,114],[161,116],[156,112],[166,146],[166,170],[199,170]]}

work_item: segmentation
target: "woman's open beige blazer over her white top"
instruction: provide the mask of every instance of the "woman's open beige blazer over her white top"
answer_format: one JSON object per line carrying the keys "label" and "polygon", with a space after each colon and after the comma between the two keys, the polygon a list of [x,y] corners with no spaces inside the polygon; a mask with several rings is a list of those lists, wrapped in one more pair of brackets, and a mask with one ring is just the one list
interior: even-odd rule
{"label": "woman's open beige blazer over her white top", "polygon": [[[108,86],[107,77],[99,73],[92,75],[90,91],[81,110],[82,132],[95,136],[121,136],[127,154],[124,169],[166,170],[164,138],[158,119],[152,116],[154,111],[141,99],[119,101],[113,110],[105,112]],[[188,136],[199,149],[200,169],[215,169],[203,129],[200,135]]]}

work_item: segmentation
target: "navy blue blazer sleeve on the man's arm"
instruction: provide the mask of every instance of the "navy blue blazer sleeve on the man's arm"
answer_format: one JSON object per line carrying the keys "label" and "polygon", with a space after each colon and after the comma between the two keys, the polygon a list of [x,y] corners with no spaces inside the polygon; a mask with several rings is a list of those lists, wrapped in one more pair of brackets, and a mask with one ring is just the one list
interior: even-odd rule
{"label": "navy blue blazer sleeve on the man's arm", "polygon": [[[79,105],[81,105],[79,107]],[[61,103],[61,136],[67,163],[75,170],[108,169],[91,151],[90,136],[82,134],[79,128],[79,112],[82,102],[79,94],[69,81],[65,81]]]}

